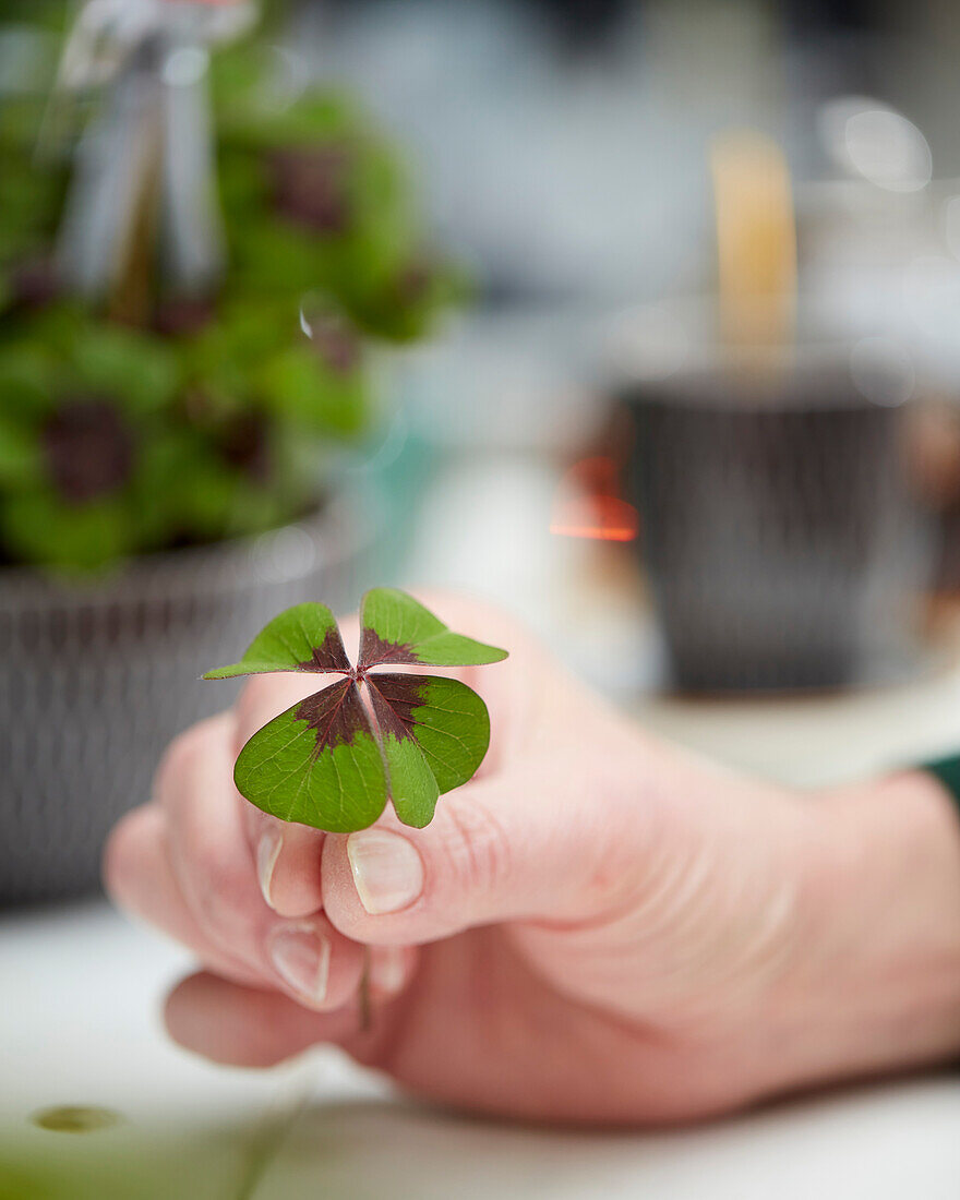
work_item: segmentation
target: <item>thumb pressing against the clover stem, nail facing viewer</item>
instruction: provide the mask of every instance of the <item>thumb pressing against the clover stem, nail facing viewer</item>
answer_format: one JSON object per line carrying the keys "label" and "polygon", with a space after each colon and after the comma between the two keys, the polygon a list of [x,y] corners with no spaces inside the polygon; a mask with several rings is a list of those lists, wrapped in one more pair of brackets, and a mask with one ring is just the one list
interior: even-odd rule
{"label": "thumb pressing against the clover stem, nail facing viewer", "polygon": [[[392,815],[328,836],[330,920],[368,943],[419,943],[502,920],[596,919],[636,877],[648,823],[630,764],[598,748],[476,780],[426,829]],[[599,760],[599,761],[598,761]]]}

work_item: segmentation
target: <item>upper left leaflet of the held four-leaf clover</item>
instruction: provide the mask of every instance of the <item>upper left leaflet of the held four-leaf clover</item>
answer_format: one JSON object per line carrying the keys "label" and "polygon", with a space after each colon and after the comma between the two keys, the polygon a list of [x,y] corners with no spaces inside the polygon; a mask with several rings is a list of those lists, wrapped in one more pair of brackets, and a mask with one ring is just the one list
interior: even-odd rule
{"label": "upper left leaflet of the held four-leaf clover", "polygon": [[234,679],[271,671],[349,674],[343,638],[326,605],[298,604],[287,608],[260,630],[239,662],[208,671],[203,678]]}

